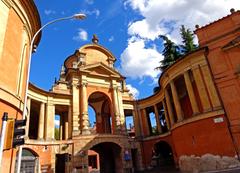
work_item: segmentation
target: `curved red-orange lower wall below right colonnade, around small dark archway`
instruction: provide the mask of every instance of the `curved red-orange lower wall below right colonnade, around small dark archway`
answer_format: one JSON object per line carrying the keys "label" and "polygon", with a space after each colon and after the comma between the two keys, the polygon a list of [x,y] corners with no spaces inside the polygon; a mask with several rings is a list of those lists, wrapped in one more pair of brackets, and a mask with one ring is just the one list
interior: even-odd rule
{"label": "curved red-orange lower wall below right colonnade, around small dark archway", "polygon": [[[219,117],[224,118],[224,115]],[[183,155],[202,156],[211,153],[234,157],[236,154],[225,118],[224,123],[214,123],[212,118],[199,120],[173,129],[169,136],[145,140],[142,152],[146,167],[151,164],[152,150],[159,141],[171,146],[176,166]]]}

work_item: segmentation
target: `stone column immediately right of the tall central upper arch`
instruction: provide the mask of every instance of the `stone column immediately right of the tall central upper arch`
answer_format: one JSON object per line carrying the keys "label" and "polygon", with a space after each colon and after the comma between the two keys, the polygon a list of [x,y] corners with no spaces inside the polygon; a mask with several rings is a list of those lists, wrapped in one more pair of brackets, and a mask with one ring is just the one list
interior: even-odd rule
{"label": "stone column immediately right of the tall central upper arch", "polygon": [[114,108],[114,118],[115,118],[115,132],[119,133],[121,128],[121,121],[120,121],[120,114],[119,114],[119,107],[118,107],[118,97],[117,97],[117,86],[113,87],[113,108]]}

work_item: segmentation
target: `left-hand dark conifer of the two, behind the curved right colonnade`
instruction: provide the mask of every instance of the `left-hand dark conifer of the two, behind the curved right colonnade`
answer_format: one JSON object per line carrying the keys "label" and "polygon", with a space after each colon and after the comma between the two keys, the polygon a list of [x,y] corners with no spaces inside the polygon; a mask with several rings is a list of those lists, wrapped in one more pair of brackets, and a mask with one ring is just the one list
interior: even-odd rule
{"label": "left-hand dark conifer of the two, behind the curved right colonnade", "polygon": [[168,39],[167,36],[160,35],[159,38],[162,39],[164,42],[164,49],[162,52],[164,59],[160,61],[161,65],[156,69],[163,71],[168,66],[172,65],[177,59],[179,59],[181,54],[179,46],[172,42],[170,39]]}

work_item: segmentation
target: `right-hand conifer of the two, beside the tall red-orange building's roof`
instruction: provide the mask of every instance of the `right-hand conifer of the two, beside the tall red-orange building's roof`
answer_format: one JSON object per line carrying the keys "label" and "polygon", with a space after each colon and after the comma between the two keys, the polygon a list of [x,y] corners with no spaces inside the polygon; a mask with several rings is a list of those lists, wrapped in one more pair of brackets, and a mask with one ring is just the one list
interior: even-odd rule
{"label": "right-hand conifer of the two, beside the tall red-orange building's roof", "polygon": [[197,45],[194,44],[194,34],[189,28],[185,28],[184,25],[180,28],[180,34],[182,37],[181,51],[185,55],[189,52],[194,51],[197,48]]}

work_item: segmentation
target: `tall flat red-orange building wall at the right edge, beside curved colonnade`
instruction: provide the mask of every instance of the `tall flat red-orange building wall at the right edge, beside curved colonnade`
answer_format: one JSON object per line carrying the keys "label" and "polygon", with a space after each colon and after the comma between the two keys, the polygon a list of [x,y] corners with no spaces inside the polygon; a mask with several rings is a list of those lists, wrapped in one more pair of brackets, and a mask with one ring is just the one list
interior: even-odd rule
{"label": "tall flat red-orange building wall at the right edge, beside curved colonnade", "polygon": [[240,151],[240,11],[196,30],[200,46],[208,47],[208,62]]}

